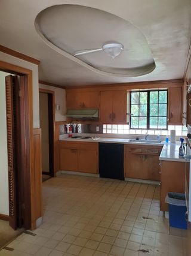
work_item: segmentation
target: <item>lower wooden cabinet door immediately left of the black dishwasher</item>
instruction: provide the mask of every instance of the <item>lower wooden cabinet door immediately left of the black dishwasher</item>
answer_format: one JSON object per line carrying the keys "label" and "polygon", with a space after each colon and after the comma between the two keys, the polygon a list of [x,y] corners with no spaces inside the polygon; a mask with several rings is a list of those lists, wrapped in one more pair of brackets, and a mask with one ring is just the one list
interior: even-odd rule
{"label": "lower wooden cabinet door immediately left of the black dishwasher", "polygon": [[79,149],[78,168],[84,173],[97,173],[97,150]]}

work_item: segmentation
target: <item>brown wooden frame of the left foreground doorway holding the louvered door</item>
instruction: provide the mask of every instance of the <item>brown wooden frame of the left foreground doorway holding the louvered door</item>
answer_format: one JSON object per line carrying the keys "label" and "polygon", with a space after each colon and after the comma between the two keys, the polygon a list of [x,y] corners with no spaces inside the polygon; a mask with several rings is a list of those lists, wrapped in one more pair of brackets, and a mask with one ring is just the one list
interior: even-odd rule
{"label": "brown wooden frame of the left foreground doorway holding the louvered door", "polygon": [[33,161],[33,99],[32,99],[32,71],[14,64],[0,61],[0,71],[4,71],[19,76],[24,76],[24,106],[21,108],[23,115],[21,118],[24,122],[25,133],[25,150],[24,150],[24,164],[26,171],[24,171],[24,228],[34,228],[32,220],[35,216],[35,204],[32,198],[32,189],[35,185],[35,180],[32,180],[34,173]]}

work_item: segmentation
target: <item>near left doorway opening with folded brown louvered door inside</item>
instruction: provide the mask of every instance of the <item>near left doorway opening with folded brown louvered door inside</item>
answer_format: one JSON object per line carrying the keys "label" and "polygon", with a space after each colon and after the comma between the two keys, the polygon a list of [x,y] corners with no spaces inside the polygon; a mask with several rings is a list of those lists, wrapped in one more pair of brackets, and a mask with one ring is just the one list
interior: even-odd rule
{"label": "near left doorway opening with folded brown louvered door inside", "polygon": [[0,174],[0,247],[30,227],[27,76],[10,72],[0,70],[3,166]]}

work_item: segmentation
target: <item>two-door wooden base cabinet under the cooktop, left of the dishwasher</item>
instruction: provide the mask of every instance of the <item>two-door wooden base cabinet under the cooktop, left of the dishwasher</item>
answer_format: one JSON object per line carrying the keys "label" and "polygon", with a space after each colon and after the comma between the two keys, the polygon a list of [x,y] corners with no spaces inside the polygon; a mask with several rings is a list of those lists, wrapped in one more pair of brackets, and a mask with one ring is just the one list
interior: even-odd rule
{"label": "two-door wooden base cabinet under the cooktop, left of the dishwasher", "polygon": [[60,170],[98,173],[98,143],[60,141]]}

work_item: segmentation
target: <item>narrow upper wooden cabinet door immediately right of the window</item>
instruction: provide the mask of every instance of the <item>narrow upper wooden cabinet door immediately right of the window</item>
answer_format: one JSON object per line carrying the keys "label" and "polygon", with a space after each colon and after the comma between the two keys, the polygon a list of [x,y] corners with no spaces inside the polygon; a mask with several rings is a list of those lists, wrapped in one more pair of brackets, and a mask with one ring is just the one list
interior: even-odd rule
{"label": "narrow upper wooden cabinet door immediately right of the window", "polygon": [[171,87],[168,90],[168,124],[182,125],[182,87]]}

